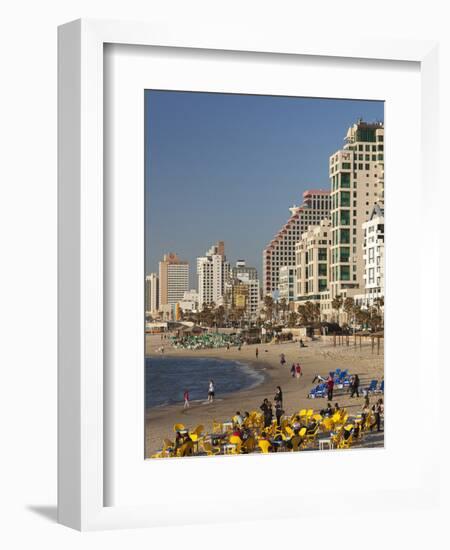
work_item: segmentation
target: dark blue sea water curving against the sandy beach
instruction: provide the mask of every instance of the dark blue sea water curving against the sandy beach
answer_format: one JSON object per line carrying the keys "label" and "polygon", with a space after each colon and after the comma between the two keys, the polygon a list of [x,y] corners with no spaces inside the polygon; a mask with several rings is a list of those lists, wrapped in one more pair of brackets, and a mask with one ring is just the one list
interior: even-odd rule
{"label": "dark blue sea water curving against the sandy beach", "polygon": [[211,357],[146,357],[146,408],[183,402],[185,390],[191,401],[206,401],[209,380],[215,398],[250,389],[264,380],[262,373],[239,361]]}

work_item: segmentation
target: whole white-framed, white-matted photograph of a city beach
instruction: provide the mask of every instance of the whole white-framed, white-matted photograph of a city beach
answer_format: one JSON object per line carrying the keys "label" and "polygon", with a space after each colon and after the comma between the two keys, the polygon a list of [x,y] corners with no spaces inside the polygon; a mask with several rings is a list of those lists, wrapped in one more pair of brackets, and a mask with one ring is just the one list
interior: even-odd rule
{"label": "whole white-framed, white-matted photograph of a city beach", "polygon": [[437,45],[174,36],[59,29],[59,521],[433,504]]}

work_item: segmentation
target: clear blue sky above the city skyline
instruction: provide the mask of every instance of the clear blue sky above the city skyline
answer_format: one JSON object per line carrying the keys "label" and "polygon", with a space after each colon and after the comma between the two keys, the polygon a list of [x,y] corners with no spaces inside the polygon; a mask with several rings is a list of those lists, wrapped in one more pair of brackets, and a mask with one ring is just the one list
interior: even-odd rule
{"label": "clear blue sky above the city skyline", "polygon": [[262,250],[306,189],[329,188],[328,157],[377,101],[145,92],[146,272],[190,263],[218,240],[261,273]]}

